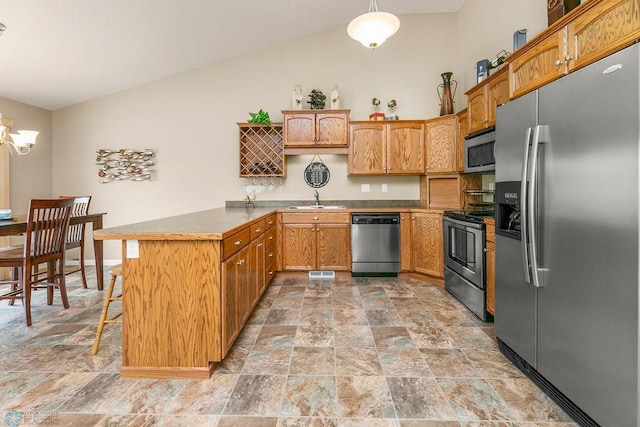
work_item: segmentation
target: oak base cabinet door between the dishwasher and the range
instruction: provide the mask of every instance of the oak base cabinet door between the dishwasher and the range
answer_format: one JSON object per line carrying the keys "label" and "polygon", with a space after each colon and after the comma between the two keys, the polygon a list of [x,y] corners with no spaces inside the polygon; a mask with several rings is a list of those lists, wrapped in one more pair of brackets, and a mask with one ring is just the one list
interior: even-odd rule
{"label": "oak base cabinet door between the dishwasher and the range", "polygon": [[412,270],[444,277],[444,249],[442,215],[437,213],[412,212],[411,257]]}

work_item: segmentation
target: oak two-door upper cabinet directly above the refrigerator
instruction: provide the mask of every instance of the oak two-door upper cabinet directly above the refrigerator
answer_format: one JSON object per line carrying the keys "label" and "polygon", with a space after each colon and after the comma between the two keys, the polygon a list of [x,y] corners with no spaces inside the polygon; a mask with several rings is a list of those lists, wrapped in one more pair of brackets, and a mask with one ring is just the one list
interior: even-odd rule
{"label": "oak two-door upper cabinet directly above the refrigerator", "polygon": [[507,58],[511,98],[602,59],[639,37],[638,0],[583,3]]}

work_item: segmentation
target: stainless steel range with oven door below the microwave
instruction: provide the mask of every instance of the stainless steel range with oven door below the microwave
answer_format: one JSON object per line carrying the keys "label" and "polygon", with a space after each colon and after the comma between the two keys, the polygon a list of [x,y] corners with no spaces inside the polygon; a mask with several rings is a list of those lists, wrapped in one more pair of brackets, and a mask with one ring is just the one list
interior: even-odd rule
{"label": "stainless steel range with oven door below the microwave", "polygon": [[484,218],[494,211],[447,211],[444,229],[445,289],[482,321],[492,320],[486,304]]}

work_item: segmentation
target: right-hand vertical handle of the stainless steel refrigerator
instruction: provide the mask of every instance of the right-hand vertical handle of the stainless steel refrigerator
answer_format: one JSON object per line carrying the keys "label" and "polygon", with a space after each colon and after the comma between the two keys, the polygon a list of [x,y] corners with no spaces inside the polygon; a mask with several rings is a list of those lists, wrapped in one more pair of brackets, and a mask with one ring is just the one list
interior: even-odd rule
{"label": "right-hand vertical handle of the stainless steel refrigerator", "polygon": [[529,234],[529,260],[531,261],[531,278],[533,286],[540,288],[544,286],[544,282],[540,280],[540,272],[544,269],[538,268],[538,224],[536,221],[536,187],[538,185],[538,151],[540,150],[540,144],[542,143],[542,135],[548,135],[547,126],[538,125],[533,129],[533,139],[531,142],[531,165],[529,167],[529,192],[527,194],[527,211],[529,214],[528,222],[528,234]]}

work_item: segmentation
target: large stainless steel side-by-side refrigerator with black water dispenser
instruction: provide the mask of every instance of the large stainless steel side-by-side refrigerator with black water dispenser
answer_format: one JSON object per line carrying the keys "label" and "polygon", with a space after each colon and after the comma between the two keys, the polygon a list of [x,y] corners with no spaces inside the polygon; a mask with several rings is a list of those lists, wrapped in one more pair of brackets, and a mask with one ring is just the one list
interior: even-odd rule
{"label": "large stainless steel side-by-side refrigerator with black water dispenser", "polygon": [[495,333],[583,425],[640,425],[639,64],[636,44],[497,112]]}

